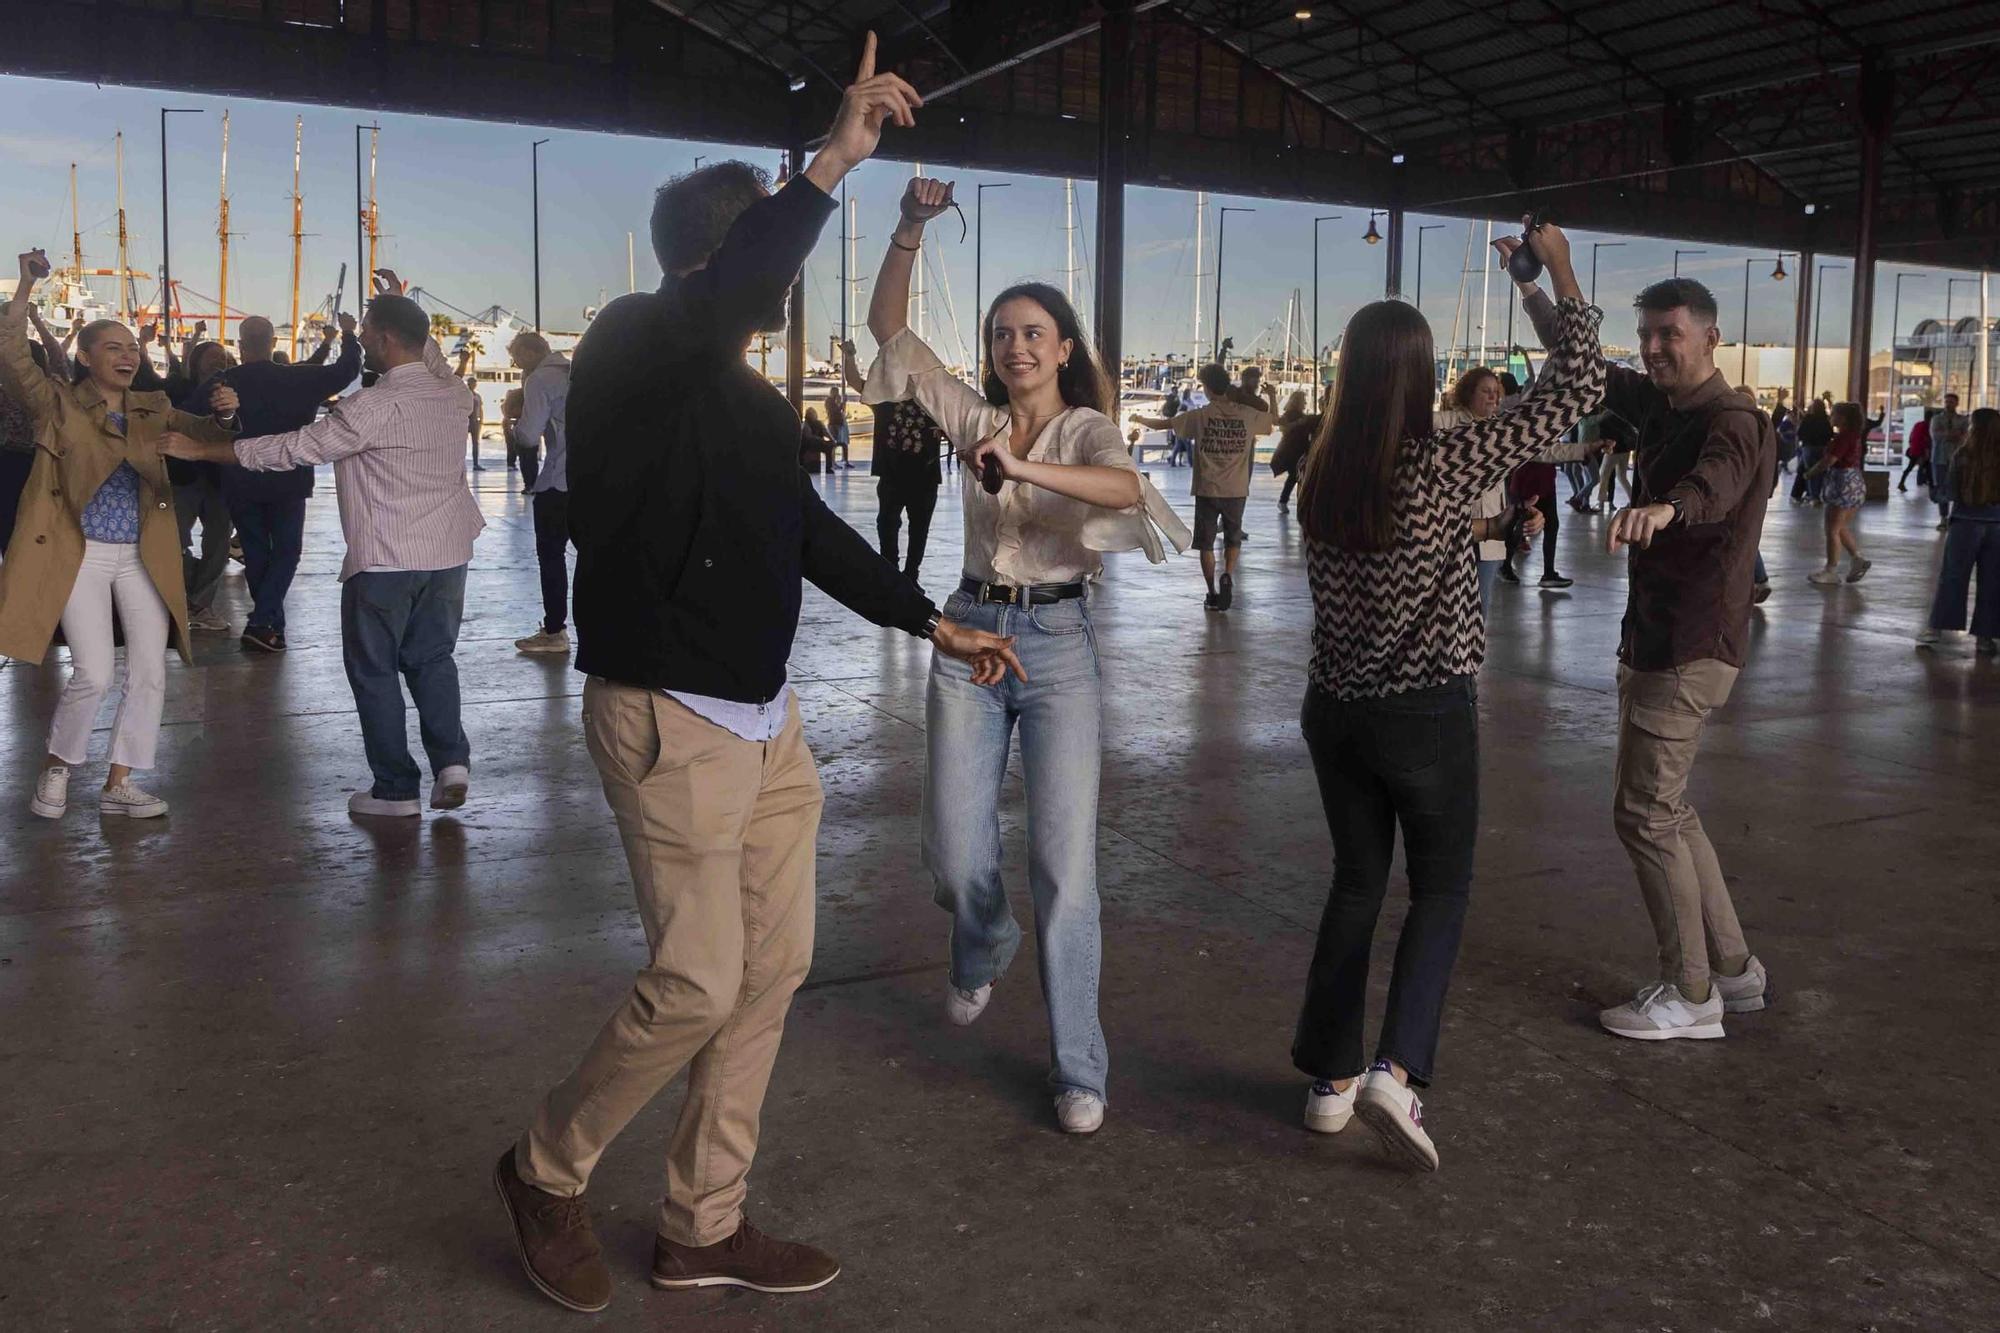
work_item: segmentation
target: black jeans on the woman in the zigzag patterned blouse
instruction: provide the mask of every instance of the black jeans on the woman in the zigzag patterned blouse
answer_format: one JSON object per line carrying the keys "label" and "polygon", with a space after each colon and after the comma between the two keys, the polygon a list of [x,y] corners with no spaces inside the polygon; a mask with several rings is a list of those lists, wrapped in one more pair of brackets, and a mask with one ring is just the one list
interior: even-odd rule
{"label": "black jeans on the woman in the zigzag patterned blouse", "polygon": [[1410,915],[1396,941],[1376,1059],[1396,1061],[1410,1071],[1410,1083],[1428,1087],[1444,991],[1466,923],[1480,819],[1474,683],[1460,677],[1352,703],[1308,689],[1300,729],[1334,835],[1334,887],[1306,975],[1292,1063],[1312,1079],[1352,1079],[1366,1069],[1368,951],[1400,825]]}

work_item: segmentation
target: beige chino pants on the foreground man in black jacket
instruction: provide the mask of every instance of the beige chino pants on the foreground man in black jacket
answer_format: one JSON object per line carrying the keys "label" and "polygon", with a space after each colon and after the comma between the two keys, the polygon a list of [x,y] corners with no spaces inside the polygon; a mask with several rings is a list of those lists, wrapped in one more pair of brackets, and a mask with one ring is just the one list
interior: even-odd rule
{"label": "beige chino pants on the foreground man in black jacket", "polygon": [[618,1131],[686,1067],[660,1235],[714,1245],[742,1221],[784,1015],[812,965],[820,775],[796,707],[764,745],[658,691],[596,677],[584,685],[584,741],[650,957],[514,1159],[536,1189],[582,1193]]}

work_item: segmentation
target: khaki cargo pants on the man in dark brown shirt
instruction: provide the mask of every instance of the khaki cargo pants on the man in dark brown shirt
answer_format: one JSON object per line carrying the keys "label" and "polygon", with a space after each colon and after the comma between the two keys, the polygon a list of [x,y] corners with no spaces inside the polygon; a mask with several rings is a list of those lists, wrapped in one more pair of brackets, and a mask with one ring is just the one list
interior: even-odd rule
{"label": "khaki cargo pants on the man in dark brown shirt", "polygon": [[1618,669],[1618,791],[1612,823],[1660,943],[1660,981],[1708,999],[1710,973],[1750,957],[1722,863],[1688,805],[1702,725],[1728,703],[1736,669],[1704,658],[1670,671]]}

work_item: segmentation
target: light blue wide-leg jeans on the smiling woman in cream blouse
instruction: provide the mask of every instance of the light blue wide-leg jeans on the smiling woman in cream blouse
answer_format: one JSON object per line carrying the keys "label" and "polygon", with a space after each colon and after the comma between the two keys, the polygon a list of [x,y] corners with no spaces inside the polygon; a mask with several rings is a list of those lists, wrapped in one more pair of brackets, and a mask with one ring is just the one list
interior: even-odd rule
{"label": "light blue wide-leg jeans on the smiling woman in cream blouse", "polygon": [[1028,893],[1048,1005],[1050,1083],[1104,1097],[1110,1055],[1098,1025],[1098,648],[1084,598],[1044,606],[944,602],[950,620],[1016,634],[1028,681],[972,685],[972,669],[930,658],[924,701],[924,865],[952,913],[952,985],[1000,979],[1020,925],[1000,885],[1000,785],[1014,727],[1028,787]]}

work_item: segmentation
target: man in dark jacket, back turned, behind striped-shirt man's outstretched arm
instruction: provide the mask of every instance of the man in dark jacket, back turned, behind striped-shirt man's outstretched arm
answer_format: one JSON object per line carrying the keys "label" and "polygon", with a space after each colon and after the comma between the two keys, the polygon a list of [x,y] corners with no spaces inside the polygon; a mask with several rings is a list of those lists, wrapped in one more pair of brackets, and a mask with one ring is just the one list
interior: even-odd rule
{"label": "man in dark jacket, back turned, behind striped-shirt man's outstretched arm", "polygon": [[[228,384],[242,406],[242,438],[290,434],[318,418],[320,404],[354,382],[362,370],[362,344],[354,336],[354,316],[340,316],[340,356],[330,366],[306,362],[286,366],[272,358],[278,330],[262,314],[244,318],[236,332],[240,366],[230,366],[210,384]],[[208,384],[202,386],[202,394]],[[200,404],[198,408],[200,410]],[[284,594],[298,572],[306,546],[306,500],[312,496],[312,468],[252,472],[222,468],[222,498],[236,520],[236,540],[244,548],[244,584],[250,588],[250,622],[242,646],[254,652],[284,652]]]}

